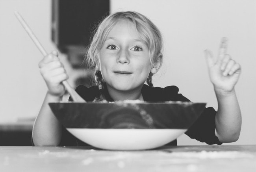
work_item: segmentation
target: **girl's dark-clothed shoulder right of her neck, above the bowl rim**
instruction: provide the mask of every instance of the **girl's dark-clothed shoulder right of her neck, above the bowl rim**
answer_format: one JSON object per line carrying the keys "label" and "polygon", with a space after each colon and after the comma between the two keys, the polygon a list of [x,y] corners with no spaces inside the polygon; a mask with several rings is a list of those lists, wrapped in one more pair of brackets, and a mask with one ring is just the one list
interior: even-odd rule
{"label": "girl's dark-clothed shoulder right of her neck, above the bowl rim", "polygon": [[142,94],[145,101],[159,102],[159,101],[189,101],[186,97],[179,94],[179,89],[175,85],[161,87],[149,87],[143,85]]}

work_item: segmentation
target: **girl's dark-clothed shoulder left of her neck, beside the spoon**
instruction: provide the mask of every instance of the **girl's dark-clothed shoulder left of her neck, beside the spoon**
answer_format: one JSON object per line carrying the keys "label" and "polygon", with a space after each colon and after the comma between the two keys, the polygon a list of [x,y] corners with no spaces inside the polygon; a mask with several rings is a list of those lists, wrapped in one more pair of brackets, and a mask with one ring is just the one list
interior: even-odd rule
{"label": "girl's dark-clothed shoulder left of her neck, beside the spoon", "polygon": [[76,92],[85,100],[93,101],[96,97],[100,96],[100,90],[97,86],[85,87],[84,85],[78,85]]}

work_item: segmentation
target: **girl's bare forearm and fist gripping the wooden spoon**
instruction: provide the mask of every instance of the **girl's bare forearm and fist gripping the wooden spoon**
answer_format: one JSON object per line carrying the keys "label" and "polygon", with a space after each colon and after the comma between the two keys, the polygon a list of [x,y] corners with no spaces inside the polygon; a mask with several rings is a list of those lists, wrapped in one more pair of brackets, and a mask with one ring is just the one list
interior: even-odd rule
{"label": "girl's bare forearm and fist gripping the wooden spoon", "polygon": [[57,52],[52,52],[39,63],[48,92],[33,126],[32,138],[35,146],[58,146],[61,140],[61,124],[48,105],[49,102],[62,99],[65,88],[61,82],[68,78],[57,56]]}

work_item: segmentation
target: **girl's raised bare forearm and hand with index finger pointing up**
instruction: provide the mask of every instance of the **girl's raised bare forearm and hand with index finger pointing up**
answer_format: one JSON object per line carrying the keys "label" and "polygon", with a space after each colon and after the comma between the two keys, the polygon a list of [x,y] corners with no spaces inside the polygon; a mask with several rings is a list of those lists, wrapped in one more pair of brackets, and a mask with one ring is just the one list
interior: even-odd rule
{"label": "girl's raised bare forearm and hand with index finger pointing up", "polygon": [[221,42],[219,55],[214,59],[206,50],[206,59],[210,80],[218,101],[215,117],[216,136],[221,142],[237,141],[241,131],[241,111],[235,92],[235,85],[241,73],[241,67],[230,55],[226,54],[227,40]]}

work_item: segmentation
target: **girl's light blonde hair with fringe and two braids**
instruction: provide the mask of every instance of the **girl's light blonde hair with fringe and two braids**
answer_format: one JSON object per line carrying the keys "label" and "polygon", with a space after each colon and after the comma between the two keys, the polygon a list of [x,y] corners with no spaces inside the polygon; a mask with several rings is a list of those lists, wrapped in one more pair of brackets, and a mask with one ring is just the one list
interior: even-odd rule
{"label": "girl's light blonde hair with fringe and two braids", "polygon": [[[139,37],[141,37],[148,46],[151,64],[154,63],[162,51],[163,41],[161,33],[156,25],[147,17],[134,11],[117,12],[109,15],[98,25],[98,28],[96,28],[96,32],[87,52],[87,63],[91,68],[95,68],[95,81],[100,89],[103,87],[104,80],[100,71],[97,70],[99,66],[99,52],[106,41],[109,31],[120,20],[128,20],[134,24]],[[147,83],[150,87],[153,87],[152,75],[153,74],[150,72],[147,79]]]}

